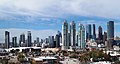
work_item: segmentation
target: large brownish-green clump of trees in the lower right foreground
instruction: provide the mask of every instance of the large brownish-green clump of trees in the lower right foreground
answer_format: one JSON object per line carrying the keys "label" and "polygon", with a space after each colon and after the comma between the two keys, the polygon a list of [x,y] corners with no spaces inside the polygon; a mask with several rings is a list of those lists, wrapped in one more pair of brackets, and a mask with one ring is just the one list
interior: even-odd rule
{"label": "large brownish-green clump of trees in the lower right foreground", "polygon": [[89,61],[90,58],[93,58],[93,61],[99,61],[99,60],[105,60],[105,61],[111,61],[110,55],[103,53],[102,50],[93,50],[84,53],[82,56],[80,56],[80,61]]}

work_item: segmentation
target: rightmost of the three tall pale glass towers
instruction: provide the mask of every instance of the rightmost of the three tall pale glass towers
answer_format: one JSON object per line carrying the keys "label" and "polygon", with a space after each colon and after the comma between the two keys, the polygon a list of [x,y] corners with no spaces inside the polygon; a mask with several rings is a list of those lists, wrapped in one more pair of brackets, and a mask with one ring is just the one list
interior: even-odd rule
{"label": "rightmost of the three tall pale glass towers", "polygon": [[80,49],[85,48],[85,28],[83,24],[79,24],[78,26],[78,47]]}

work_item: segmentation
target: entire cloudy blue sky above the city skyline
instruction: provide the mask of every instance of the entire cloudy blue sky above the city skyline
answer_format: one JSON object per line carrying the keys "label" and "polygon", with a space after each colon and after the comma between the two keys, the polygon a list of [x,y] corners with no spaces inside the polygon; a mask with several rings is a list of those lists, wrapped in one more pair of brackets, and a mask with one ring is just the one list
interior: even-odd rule
{"label": "entire cloudy blue sky above the city skyline", "polygon": [[[0,0],[0,42],[4,31],[12,36],[32,31],[33,39],[45,38],[61,31],[62,22],[101,25],[115,22],[115,35],[120,36],[120,0]],[[96,30],[97,31],[97,30]]]}

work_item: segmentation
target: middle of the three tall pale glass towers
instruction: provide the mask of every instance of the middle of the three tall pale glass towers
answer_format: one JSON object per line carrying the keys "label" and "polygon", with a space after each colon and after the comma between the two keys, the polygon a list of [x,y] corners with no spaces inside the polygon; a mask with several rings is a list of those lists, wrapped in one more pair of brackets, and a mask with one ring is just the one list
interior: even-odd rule
{"label": "middle of the three tall pale glass towers", "polygon": [[75,48],[76,47],[76,24],[74,21],[70,23],[70,40],[71,40],[71,47]]}

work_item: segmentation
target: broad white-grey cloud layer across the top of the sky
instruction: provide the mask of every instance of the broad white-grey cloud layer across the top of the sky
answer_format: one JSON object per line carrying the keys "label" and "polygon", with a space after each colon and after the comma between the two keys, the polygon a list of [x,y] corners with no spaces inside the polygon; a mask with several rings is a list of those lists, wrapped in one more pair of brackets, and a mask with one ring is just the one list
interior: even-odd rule
{"label": "broad white-grey cloud layer across the top of the sky", "polygon": [[69,14],[120,19],[120,0],[0,0],[0,14],[64,17]]}

